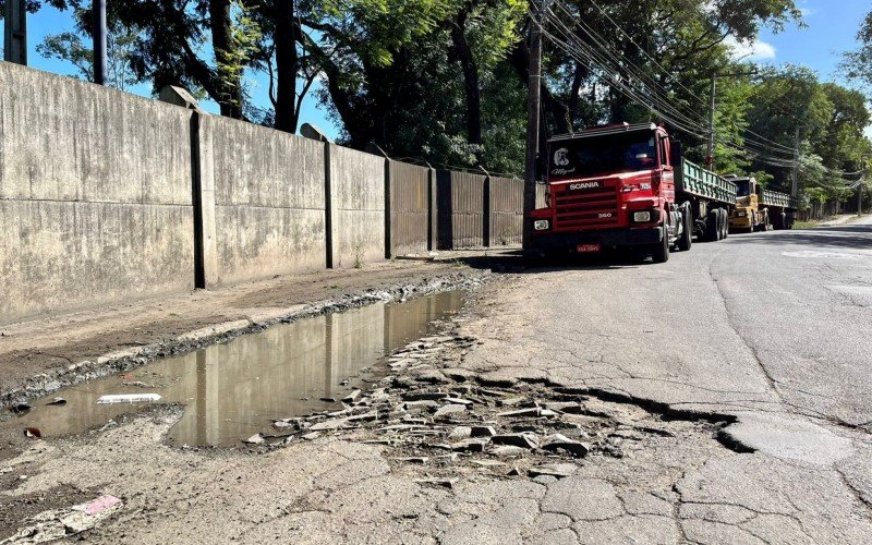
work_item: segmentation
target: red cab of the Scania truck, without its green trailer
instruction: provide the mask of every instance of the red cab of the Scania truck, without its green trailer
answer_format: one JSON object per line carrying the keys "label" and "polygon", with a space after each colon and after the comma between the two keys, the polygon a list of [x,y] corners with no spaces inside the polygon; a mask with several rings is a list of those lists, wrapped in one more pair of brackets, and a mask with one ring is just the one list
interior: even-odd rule
{"label": "red cab of the Scania truck, without its green trailer", "polygon": [[546,208],[534,210],[532,245],[548,252],[641,246],[668,258],[681,231],[666,130],[608,125],[548,141]]}

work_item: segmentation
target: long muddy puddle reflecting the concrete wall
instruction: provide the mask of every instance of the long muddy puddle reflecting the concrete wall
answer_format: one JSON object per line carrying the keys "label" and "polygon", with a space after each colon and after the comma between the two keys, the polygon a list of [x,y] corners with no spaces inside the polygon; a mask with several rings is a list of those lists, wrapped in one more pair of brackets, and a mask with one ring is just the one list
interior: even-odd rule
{"label": "long muddy puddle reflecting the concrete wall", "polygon": [[[177,445],[238,445],[275,419],[338,408],[350,388],[384,376],[386,353],[433,332],[456,313],[461,292],[407,303],[376,303],[353,311],[270,327],[179,358],[158,360],[122,375],[60,390],[33,401],[24,415],[2,427],[37,427],[44,437],[85,432],[135,410],[97,404],[108,393],[159,393],[161,402],[185,405],[170,431]],[[55,397],[63,405],[47,405]]]}

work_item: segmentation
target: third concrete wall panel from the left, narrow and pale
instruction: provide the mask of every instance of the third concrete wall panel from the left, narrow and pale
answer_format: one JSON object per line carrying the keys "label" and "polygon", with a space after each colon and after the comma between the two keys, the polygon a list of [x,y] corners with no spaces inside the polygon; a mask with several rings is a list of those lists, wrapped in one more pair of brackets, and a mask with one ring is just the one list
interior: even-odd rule
{"label": "third concrete wall panel from the left, narrow and pale", "polygon": [[330,145],[332,266],[385,258],[385,159]]}

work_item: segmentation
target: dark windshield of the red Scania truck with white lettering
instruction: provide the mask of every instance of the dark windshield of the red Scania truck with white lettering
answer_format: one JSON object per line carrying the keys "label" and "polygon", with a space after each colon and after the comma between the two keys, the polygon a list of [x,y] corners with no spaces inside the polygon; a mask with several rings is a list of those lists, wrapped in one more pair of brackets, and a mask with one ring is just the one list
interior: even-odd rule
{"label": "dark windshield of the red Scania truck with white lettering", "polygon": [[627,134],[582,138],[552,146],[552,177],[590,177],[657,167],[654,135]]}

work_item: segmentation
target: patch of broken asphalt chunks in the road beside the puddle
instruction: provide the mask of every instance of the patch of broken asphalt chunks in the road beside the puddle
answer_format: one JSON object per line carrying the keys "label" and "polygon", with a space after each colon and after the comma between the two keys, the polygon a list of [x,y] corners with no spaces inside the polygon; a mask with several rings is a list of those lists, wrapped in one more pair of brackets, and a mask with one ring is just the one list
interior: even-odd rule
{"label": "patch of broken asphalt chunks in the road beside the puddle", "polygon": [[450,331],[421,338],[387,356],[387,374],[368,388],[350,387],[341,409],[275,420],[243,443],[269,449],[338,436],[382,445],[392,464],[421,473],[419,483],[450,488],[469,474],[561,479],[588,457],[623,458],[628,441],[671,435],[651,414],[632,422],[584,389],[463,368],[476,342]]}

